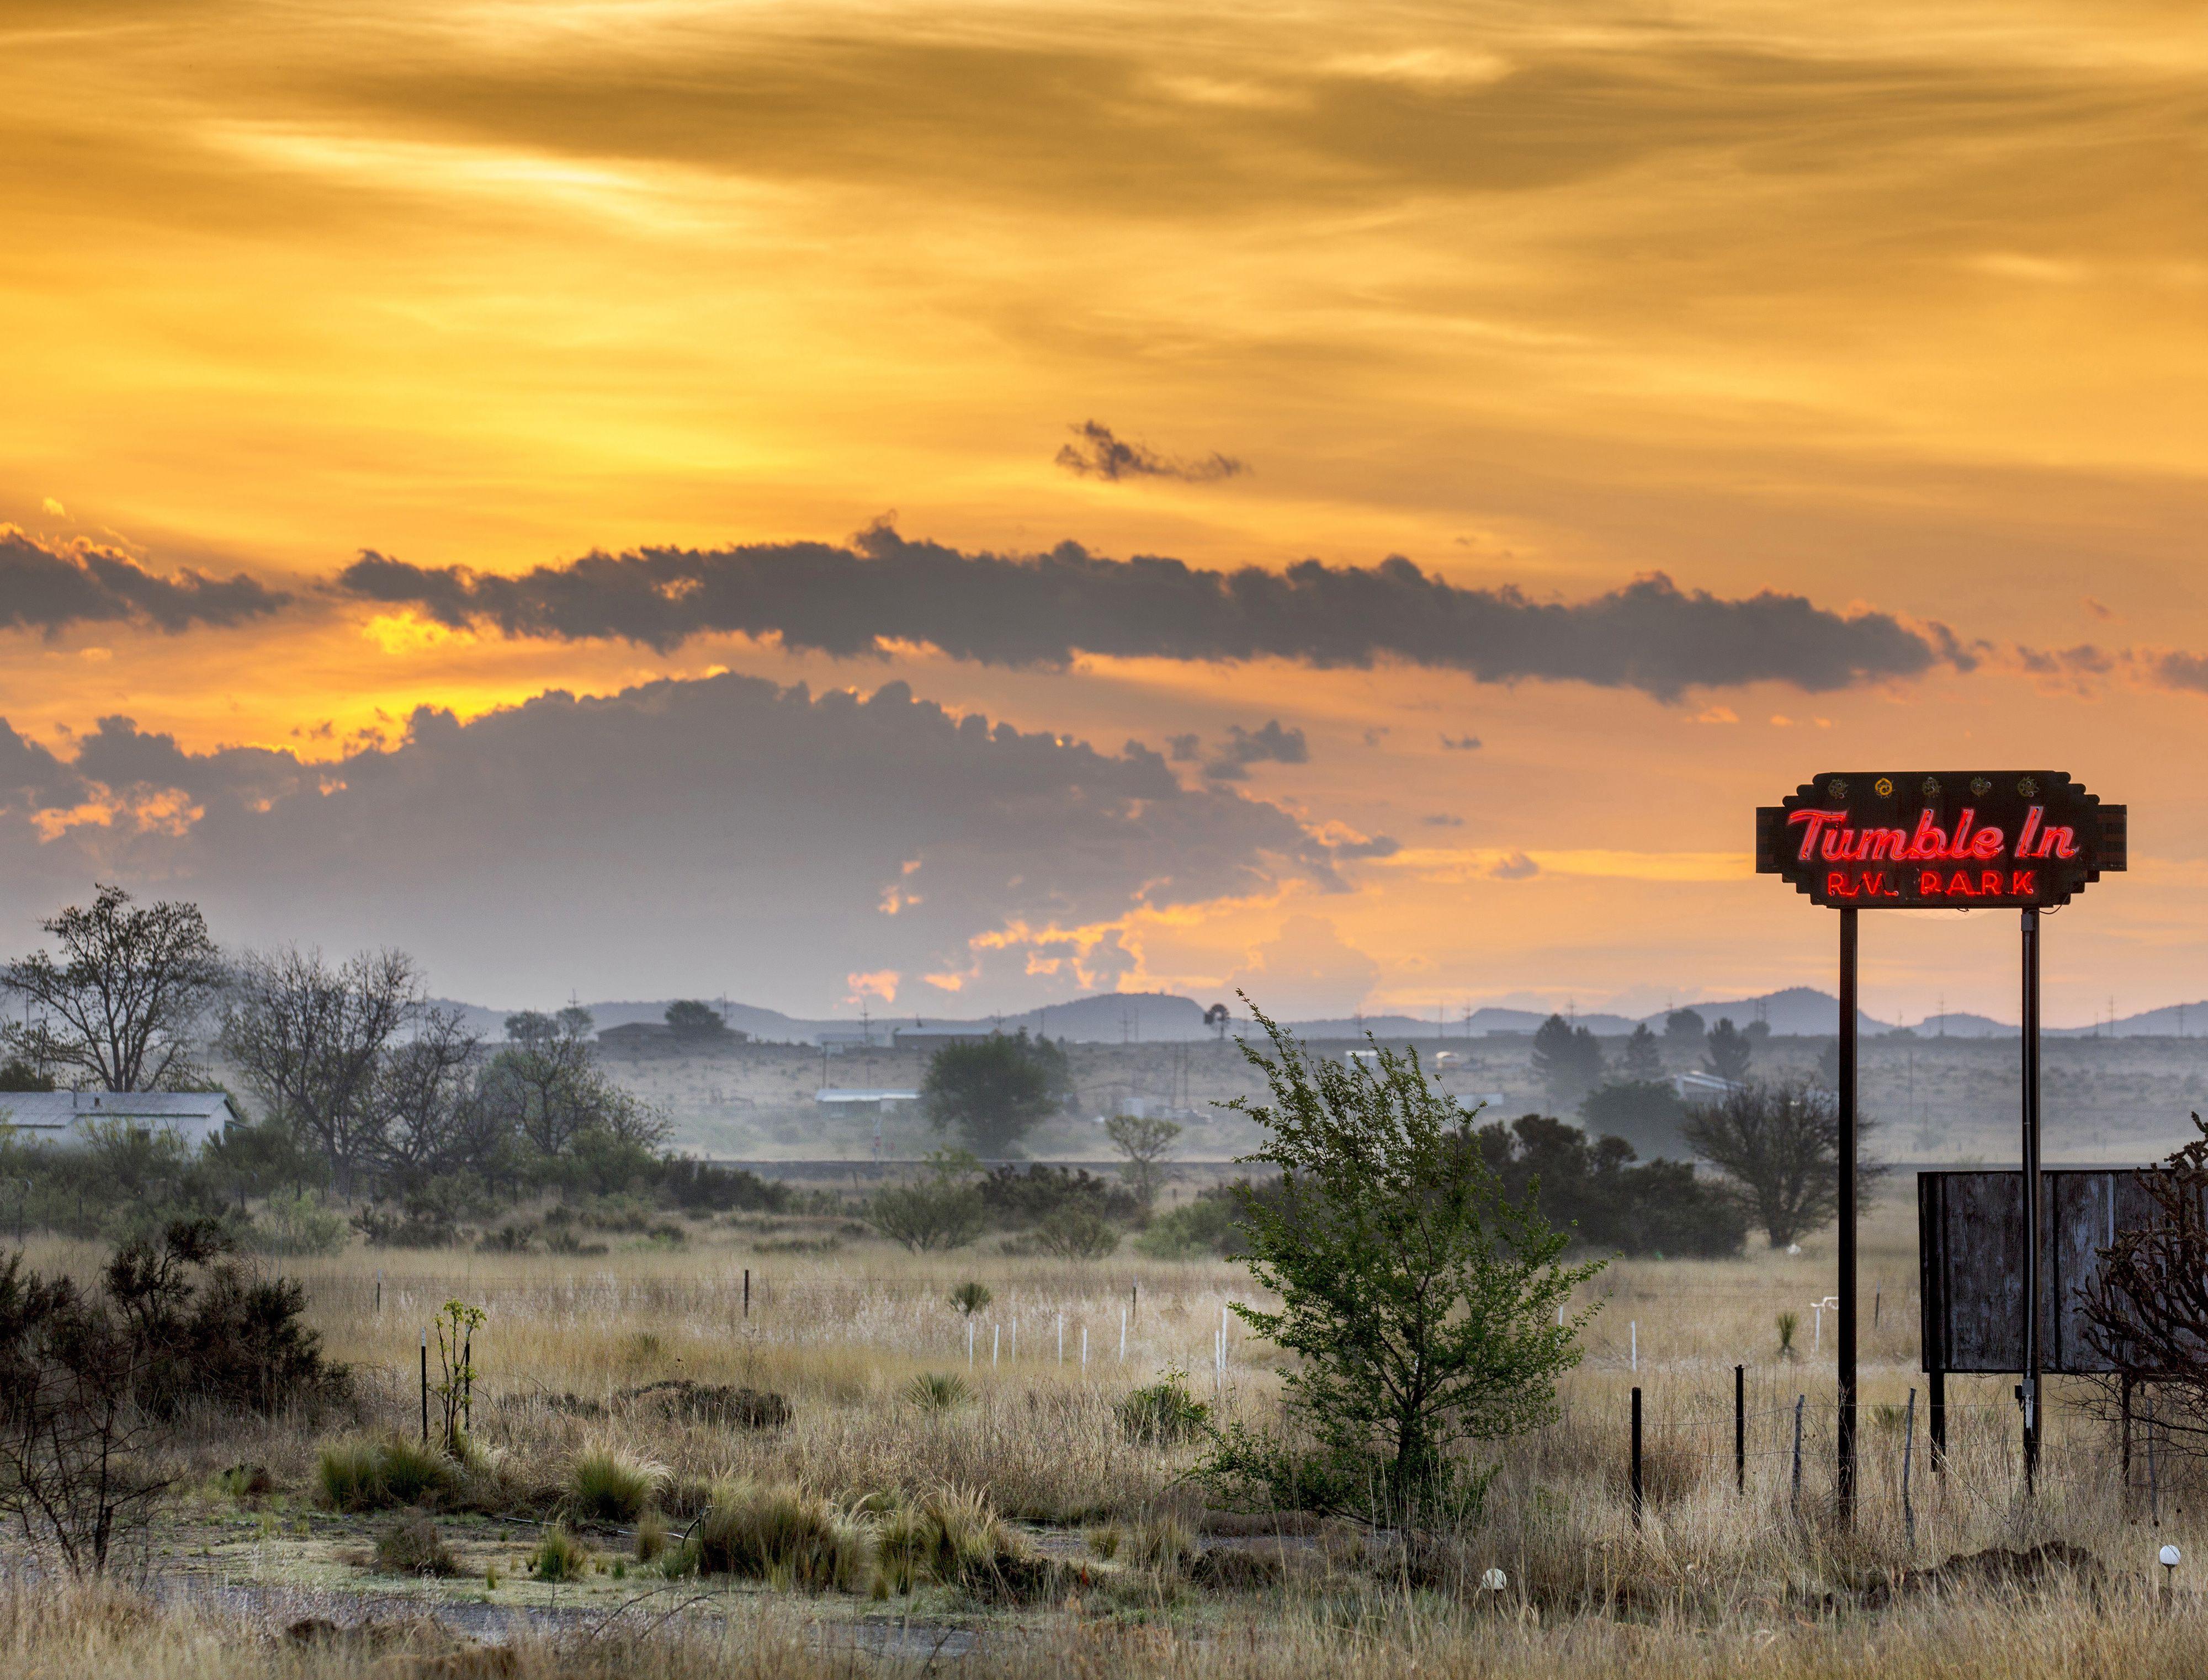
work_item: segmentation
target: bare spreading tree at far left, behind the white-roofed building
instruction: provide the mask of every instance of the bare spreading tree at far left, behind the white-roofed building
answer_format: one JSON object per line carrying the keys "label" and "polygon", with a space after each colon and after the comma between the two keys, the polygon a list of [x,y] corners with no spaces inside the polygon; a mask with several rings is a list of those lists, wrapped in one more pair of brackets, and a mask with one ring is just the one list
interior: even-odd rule
{"label": "bare spreading tree at far left, behind the white-roofed building", "polygon": [[71,905],[40,927],[60,958],[33,951],[0,969],[38,1009],[7,1029],[20,1055],[106,1091],[177,1088],[199,1073],[190,1035],[225,978],[199,905],[137,905],[121,887],[95,887],[91,910]]}

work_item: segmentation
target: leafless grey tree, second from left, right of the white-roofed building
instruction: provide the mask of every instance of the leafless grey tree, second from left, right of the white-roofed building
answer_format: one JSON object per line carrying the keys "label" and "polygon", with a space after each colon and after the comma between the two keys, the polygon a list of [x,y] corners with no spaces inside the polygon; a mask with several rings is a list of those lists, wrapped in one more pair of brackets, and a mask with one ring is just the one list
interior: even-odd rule
{"label": "leafless grey tree, second from left, right of the white-roofed building", "polygon": [[364,951],[331,969],[320,951],[289,947],[241,965],[223,1053],[272,1115],[322,1150],[340,1197],[384,1157],[378,1080],[420,1011],[422,980],[404,951]]}

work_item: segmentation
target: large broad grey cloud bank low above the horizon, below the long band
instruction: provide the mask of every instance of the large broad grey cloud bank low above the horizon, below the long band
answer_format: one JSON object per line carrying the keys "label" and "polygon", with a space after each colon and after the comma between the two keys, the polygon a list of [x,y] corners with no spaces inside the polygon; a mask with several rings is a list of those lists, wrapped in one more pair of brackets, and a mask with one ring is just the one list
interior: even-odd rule
{"label": "large broad grey cloud bank low above the horizon, below the long band", "polygon": [[[201,899],[227,938],[395,943],[501,998],[618,980],[828,1007],[848,971],[901,969],[901,1000],[938,1007],[919,976],[967,969],[976,934],[1336,887],[1391,850],[1181,786],[1139,744],[991,726],[901,682],[667,680],[468,724],[422,709],[338,764],[185,753],[126,717],[60,757],[0,724],[0,951],[119,879]],[[1027,951],[987,960],[1018,976]]]}

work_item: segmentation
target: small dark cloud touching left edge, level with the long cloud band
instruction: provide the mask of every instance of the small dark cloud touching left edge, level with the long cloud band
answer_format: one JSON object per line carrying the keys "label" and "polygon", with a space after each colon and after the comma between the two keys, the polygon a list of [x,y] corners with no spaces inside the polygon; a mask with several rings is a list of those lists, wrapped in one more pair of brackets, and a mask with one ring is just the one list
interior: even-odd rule
{"label": "small dark cloud touching left edge, level with the long cloud band", "polygon": [[0,629],[55,636],[73,625],[128,623],[177,634],[194,625],[243,625],[285,605],[289,596],[243,572],[161,576],[113,547],[53,545],[0,525]]}

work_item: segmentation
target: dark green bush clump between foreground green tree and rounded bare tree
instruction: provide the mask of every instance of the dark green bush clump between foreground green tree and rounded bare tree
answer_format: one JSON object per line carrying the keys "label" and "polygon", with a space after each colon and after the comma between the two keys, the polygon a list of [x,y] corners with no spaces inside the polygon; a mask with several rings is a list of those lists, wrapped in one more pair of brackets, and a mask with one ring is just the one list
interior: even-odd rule
{"label": "dark green bush clump between foreground green tree and rounded bare tree", "polygon": [[1590,1139],[1577,1126],[1524,1115],[1479,1128],[1479,1152],[1504,1194],[1537,1201],[1572,1238],[1625,1254],[1738,1254],[1749,1221],[1740,1201],[1685,1161],[1634,1166],[1621,1137]]}

